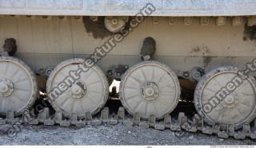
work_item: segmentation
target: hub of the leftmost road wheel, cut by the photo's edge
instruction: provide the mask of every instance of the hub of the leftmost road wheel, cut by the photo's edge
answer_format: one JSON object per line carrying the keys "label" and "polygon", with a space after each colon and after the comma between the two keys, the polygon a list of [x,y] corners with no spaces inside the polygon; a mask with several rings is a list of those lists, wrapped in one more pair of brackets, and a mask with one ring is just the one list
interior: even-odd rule
{"label": "hub of the leftmost road wheel, cut by the photo's edge", "polygon": [[0,80],[0,95],[7,97],[14,92],[14,84],[7,79]]}

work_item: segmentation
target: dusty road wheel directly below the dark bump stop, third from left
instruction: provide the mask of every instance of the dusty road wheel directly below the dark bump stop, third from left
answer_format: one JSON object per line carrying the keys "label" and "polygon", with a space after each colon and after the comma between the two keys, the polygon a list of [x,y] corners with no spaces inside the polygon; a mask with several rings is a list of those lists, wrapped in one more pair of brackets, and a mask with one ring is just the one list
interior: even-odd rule
{"label": "dusty road wheel directly below the dark bump stop, third from left", "polygon": [[144,61],[129,68],[122,76],[120,98],[126,110],[143,119],[155,115],[162,119],[178,104],[180,86],[178,77],[165,64]]}

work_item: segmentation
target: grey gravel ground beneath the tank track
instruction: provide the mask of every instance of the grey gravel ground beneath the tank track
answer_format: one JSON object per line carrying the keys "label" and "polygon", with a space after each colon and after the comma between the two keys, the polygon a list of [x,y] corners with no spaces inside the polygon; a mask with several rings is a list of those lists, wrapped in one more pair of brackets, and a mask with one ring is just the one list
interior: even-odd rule
{"label": "grey gravel ground beneath the tank track", "polygon": [[26,126],[14,138],[9,138],[6,130],[0,127],[0,145],[256,145],[251,139],[222,139],[215,135],[171,130],[125,127],[45,127]]}

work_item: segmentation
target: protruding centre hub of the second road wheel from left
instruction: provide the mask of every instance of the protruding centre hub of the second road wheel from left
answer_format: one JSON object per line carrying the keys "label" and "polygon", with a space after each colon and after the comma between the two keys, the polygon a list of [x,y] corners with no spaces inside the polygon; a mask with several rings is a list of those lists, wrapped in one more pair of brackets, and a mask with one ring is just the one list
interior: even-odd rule
{"label": "protruding centre hub of the second road wheel from left", "polygon": [[84,95],[86,95],[86,85],[82,82],[73,84],[70,88],[70,95],[74,99],[81,99]]}

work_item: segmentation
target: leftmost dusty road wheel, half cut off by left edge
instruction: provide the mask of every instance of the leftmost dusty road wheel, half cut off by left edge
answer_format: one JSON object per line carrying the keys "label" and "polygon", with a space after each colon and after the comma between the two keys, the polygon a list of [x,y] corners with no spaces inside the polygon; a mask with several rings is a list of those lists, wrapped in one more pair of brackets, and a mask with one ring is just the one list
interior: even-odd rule
{"label": "leftmost dusty road wheel, half cut off by left edge", "polygon": [[0,115],[14,111],[21,115],[37,99],[38,84],[34,72],[22,60],[0,56]]}

